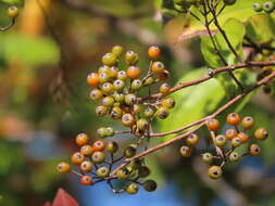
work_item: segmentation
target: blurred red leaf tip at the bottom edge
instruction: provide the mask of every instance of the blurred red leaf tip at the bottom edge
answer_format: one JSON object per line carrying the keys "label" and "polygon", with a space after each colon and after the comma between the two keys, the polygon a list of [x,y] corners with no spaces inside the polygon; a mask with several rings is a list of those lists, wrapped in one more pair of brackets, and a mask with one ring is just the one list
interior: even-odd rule
{"label": "blurred red leaf tip at the bottom edge", "polygon": [[63,189],[59,189],[52,206],[79,206],[79,204]]}

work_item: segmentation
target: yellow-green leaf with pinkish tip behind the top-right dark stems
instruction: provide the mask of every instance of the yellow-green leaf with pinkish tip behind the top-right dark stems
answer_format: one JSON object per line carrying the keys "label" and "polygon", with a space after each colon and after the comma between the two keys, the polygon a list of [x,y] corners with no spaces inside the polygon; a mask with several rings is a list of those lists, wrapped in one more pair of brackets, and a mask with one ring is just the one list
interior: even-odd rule
{"label": "yellow-green leaf with pinkish tip behind the top-right dark stems", "polygon": [[[265,2],[265,0],[258,0],[258,2]],[[249,0],[238,0],[234,5],[226,7],[225,10],[218,15],[217,21],[223,26],[229,18],[234,17],[239,20],[240,22],[246,22],[250,16],[255,15],[257,12],[252,9],[252,1]],[[221,8],[221,5],[220,5]],[[195,11],[193,9],[192,11]],[[198,14],[198,12],[196,12]],[[203,16],[199,14],[201,21],[203,21]],[[211,14],[208,15],[209,20],[212,20]],[[204,25],[196,20],[192,16],[188,17],[189,20],[184,25],[184,31],[178,37],[178,40],[186,40],[196,36],[205,35],[205,27]],[[224,27],[224,26],[223,26]],[[211,30],[216,30],[214,24],[210,25]]]}

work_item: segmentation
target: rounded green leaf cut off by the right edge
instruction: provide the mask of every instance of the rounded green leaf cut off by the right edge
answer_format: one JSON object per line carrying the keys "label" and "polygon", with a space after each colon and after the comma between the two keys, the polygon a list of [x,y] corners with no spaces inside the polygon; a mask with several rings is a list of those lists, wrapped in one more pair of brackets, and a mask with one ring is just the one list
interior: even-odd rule
{"label": "rounded green leaf cut off by the right edge", "polygon": [[274,20],[266,14],[253,15],[248,20],[247,36],[258,43],[266,43],[275,37]]}

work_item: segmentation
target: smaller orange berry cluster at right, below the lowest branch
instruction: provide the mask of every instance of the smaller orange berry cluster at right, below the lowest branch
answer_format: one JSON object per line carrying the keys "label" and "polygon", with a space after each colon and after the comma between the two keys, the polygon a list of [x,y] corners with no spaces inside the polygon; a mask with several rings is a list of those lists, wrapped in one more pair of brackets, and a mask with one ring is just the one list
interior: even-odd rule
{"label": "smaller orange berry cluster at right, below the lowest branch", "polygon": [[[223,175],[223,167],[227,163],[238,162],[245,155],[258,156],[261,149],[254,143],[255,140],[265,140],[268,132],[265,128],[258,128],[254,131],[254,138],[249,134],[249,130],[252,129],[254,120],[250,116],[246,116],[242,119],[237,113],[230,113],[226,118],[227,125],[224,134],[218,133],[220,121],[215,118],[207,120],[205,125],[211,134],[211,142],[215,149],[216,154],[211,152],[201,153],[202,160],[212,165],[209,168],[209,177],[212,179],[218,179]],[[198,145],[200,137],[196,133],[190,134],[186,139],[186,144],[179,150],[184,157],[191,156],[193,149]],[[247,145],[247,152],[239,154],[236,149]]]}

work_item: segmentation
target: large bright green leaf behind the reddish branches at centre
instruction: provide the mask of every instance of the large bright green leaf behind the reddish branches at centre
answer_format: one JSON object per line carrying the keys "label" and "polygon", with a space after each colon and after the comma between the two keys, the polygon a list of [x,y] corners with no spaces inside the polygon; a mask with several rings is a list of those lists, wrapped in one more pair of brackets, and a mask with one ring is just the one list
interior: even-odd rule
{"label": "large bright green leaf behind the reddish branches at centre", "polygon": [[[179,79],[179,82],[190,81],[205,75],[205,68],[192,70]],[[168,118],[159,121],[160,130],[162,132],[170,131],[204,117],[216,108],[224,95],[224,90],[216,79],[210,79],[171,94],[171,98],[176,101],[176,106],[171,110]],[[171,138],[173,136],[165,137],[163,140],[166,141]]]}

